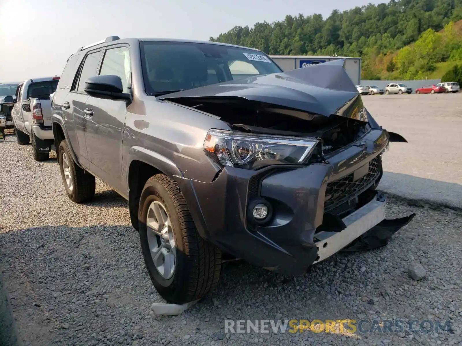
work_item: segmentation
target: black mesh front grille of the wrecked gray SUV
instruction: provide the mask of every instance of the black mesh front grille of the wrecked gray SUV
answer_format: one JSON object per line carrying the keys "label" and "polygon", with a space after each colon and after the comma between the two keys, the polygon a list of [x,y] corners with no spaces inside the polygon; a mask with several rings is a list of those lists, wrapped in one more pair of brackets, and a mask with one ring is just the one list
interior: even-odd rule
{"label": "black mesh front grille of the wrecked gray SUV", "polygon": [[328,183],[326,187],[324,213],[352,200],[374,185],[377,178],[380,176],[381,166],[381,158],[377,156],[369,162],[369,171],[358,180],[353,181],[353,172],[339,180]]}

